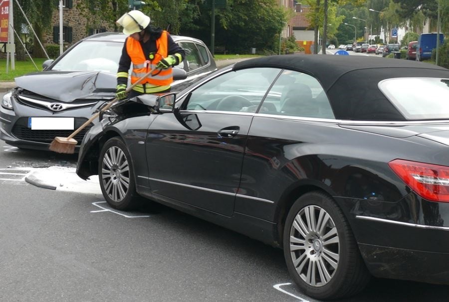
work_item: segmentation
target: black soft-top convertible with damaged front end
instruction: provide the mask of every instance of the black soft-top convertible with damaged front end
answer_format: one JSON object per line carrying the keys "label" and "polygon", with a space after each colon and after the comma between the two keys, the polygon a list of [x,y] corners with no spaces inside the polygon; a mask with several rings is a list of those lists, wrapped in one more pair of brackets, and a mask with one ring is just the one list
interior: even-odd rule
{"label": "black soft-top convertible with damaged front end", "polygon": [[315,299],[370,275],[449,284],[448,99],[431,64],[254,58],[112,107],[76,173],[113,208],[143,196],[283,248]]}

